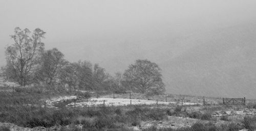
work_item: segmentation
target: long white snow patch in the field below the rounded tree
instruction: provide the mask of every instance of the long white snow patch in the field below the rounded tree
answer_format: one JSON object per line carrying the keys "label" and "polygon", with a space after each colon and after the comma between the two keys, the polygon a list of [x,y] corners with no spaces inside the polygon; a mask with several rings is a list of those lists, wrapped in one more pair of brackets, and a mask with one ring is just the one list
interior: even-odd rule
{"label": "long white snow patch in the field below the rounded tree", "polygon": [[[132,105],[153,105],[156,103],[158,104],[181,104],[181,103],[176,103],[176,102],[163,102],[163,101],[154,101],[154,100],[145,100],[145,99],[126,99],[126,98],[91,98],[87,101],[77,101],[76,102],[76,107],[93,107],[93,106],[99,106],[99,105],[104,105],[105,106],[129,106]],[[73,107],[74,102],[70,103],[67,105],[67,107]],[[189,103],[189,102],[184,102],[183,105],[195,105],[199,103]]]}

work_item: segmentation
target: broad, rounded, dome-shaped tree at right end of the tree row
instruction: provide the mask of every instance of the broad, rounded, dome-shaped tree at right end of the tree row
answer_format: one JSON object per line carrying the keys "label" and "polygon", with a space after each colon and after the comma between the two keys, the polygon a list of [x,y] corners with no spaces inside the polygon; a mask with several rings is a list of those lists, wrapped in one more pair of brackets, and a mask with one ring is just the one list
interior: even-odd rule
{"label": "broad, rounded, dome-shaped tree at right end of the tree row", "polygon": [[135,64],[130,65],[125,70],[123,85],[139,93],[150,94],[155,91],[163,93],[165,88],[160,71],[161,69],[156,63],[148,60],[137,60]]}

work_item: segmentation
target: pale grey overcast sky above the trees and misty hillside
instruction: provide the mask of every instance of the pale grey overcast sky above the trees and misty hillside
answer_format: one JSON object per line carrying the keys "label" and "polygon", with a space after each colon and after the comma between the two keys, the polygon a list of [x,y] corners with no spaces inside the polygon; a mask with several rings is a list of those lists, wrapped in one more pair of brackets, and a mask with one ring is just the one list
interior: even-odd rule
{"label": "pale grey overcast sky above the trees and misty hillside", "polygon": [[197,43],[186,38],[255,23],[255,7],[255,0],[0,0],[0,66],[20,27],[44,30],[46,49],[58,48],[71,62],[99,63],[112,74],[136,59],[166,68],[162,61]]}

